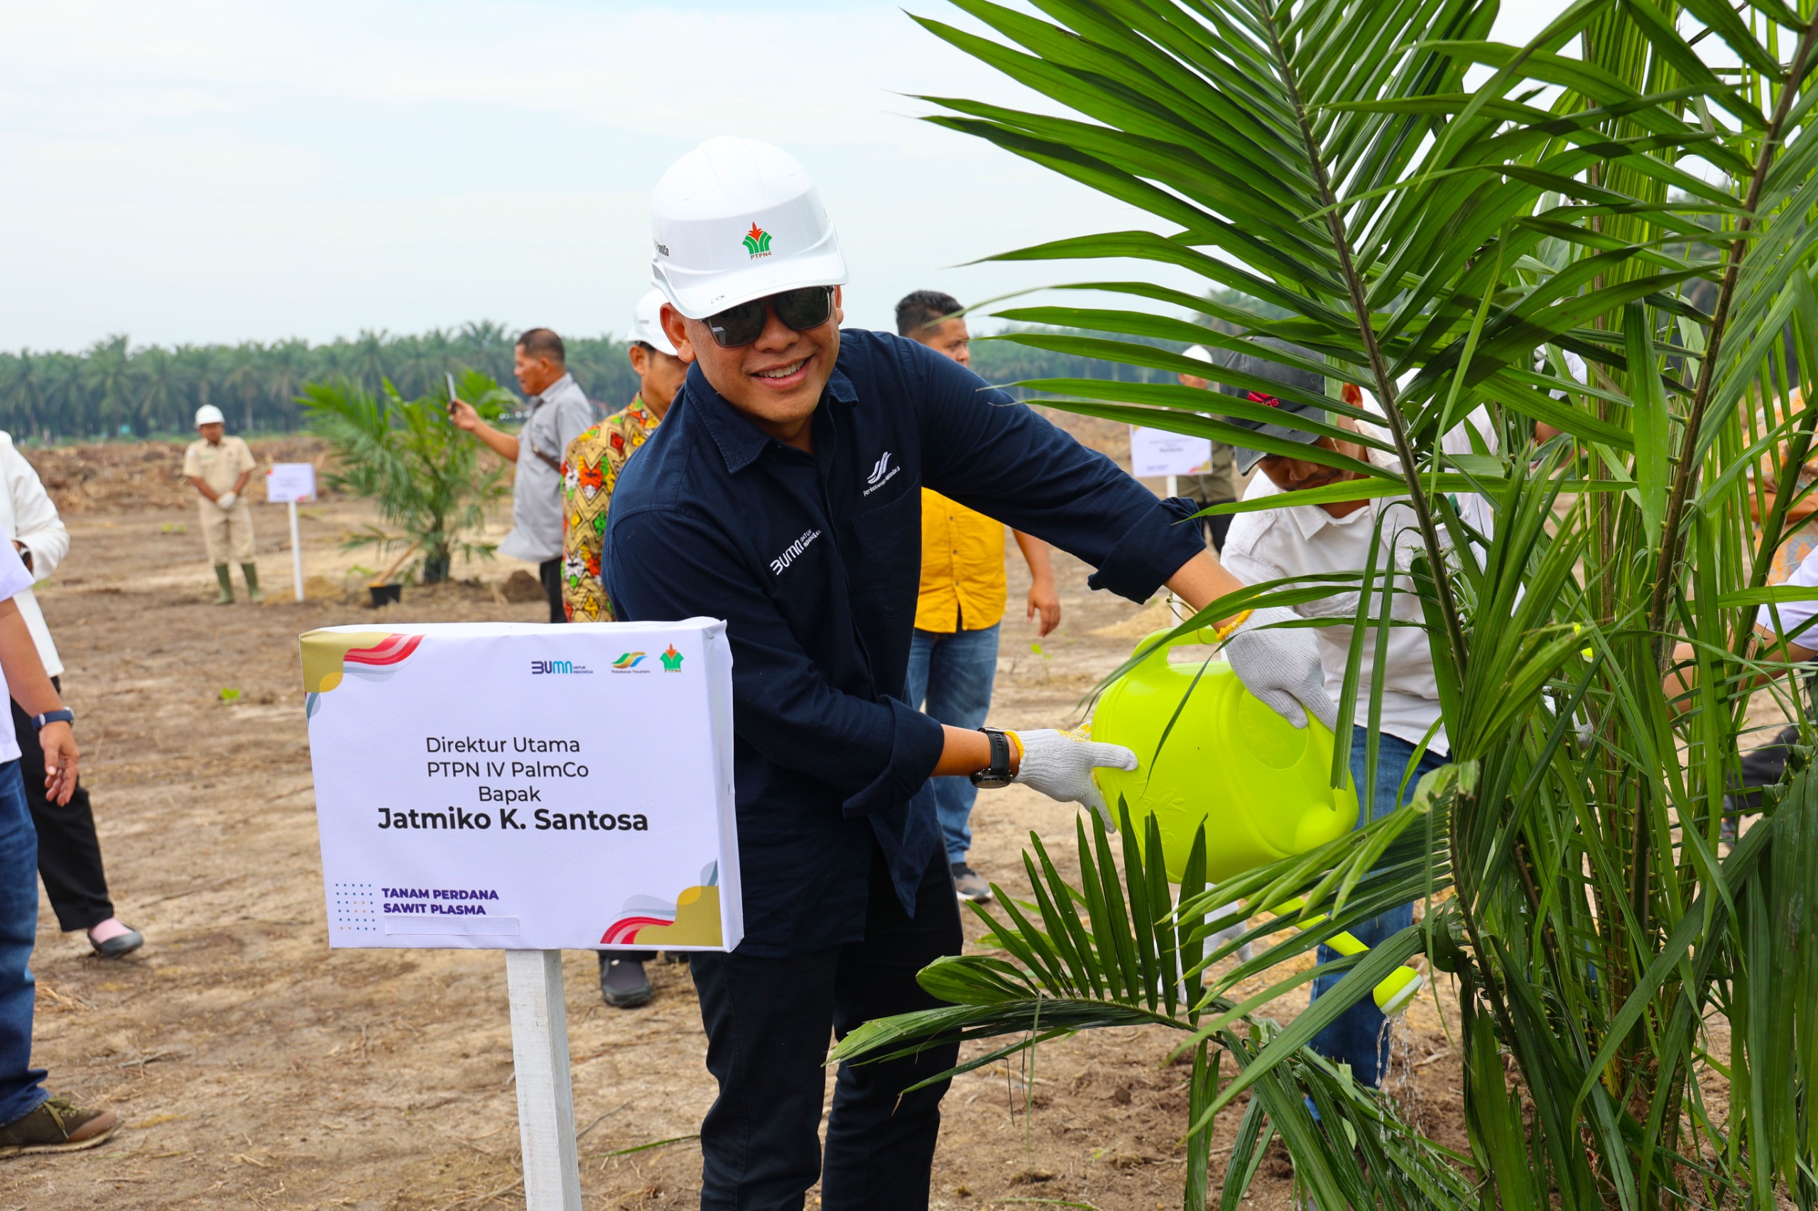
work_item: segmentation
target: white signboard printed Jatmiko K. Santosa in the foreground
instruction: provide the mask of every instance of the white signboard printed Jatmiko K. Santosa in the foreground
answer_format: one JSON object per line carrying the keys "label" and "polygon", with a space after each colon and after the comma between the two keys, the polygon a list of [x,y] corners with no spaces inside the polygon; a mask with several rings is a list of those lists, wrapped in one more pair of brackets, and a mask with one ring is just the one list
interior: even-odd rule
{"label": "white signboard printed Jatmiko K. Santosa in the foreground", "polygon": [[329,946],[738,946],[725,624],[302,636]]}

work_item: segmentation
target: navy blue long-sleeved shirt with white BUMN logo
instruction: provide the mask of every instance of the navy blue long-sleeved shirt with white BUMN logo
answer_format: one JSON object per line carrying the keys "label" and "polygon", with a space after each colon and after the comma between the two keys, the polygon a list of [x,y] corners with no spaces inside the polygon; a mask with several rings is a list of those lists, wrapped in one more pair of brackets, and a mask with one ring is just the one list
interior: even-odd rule
{"label": "navy blue long-sleeved shirt with white BUMN logo", "polygon": [[936,851],[940,724],[904,698],[922,487],[1098,567],[1147,600],[1205,549],[1156,500],[978,375],[847,329],[814,453],[767,436],[700,367],[620,473],[604,580],[627,620],[725,618],[745,940],[787,956],[865,929],[871,847],[904,907]]}

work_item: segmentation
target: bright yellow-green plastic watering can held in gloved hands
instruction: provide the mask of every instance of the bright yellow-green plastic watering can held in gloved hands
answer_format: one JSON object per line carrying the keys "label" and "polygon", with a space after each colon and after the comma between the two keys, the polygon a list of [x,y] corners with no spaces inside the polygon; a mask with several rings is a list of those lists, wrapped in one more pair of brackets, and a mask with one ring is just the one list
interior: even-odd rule
{"label": "bright yellow-green plastic watering can held in gloved hands", "polygon": [[[1131,771],[1100,766],[1093,776],[1113,811],[1122,795],[1131,820],[1154,815],[1173,882],[1180,882],[1202,822],[1205,878],[1213,884],[1356,827],[1351,780],[1340,789],[1329,786],[1334,740],[1324,724],[1294,727],[1245,689],[1224,660],[1169,664],[1171,647],[1214,642],[1211,627],[1167,644],[1164,636],[1167,631],[1156,631],[1136,644],[1147,655],[1105,689],[1093,711],[1093,740],[1122,744],[1140,764]],[[1300,900],[1291,900],[1273,911],[1298,907]],[[1342,955],[1369,949],[1349,933],[1329,946]],[[1420,973],[1400,967],[1376,986],[1376,1006],[1394,1013],[1420,984]]]}

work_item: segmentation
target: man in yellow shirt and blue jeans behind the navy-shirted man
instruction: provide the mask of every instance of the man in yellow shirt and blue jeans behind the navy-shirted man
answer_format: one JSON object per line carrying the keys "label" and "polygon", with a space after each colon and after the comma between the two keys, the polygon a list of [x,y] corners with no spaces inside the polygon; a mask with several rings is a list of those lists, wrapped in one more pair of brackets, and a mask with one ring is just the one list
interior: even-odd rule
{"label": "man in yellow shirt and blue jeans behind the navy-shirted man", "polygon": [[[940,291],[914,291],[896,304],[896,333],[918,340],[960,365],[971,365],[971,333],[958,300]],[[942,724],[978,727],[991,711],[998,675],[998,624],[1009,600],[1004,575],[1004,522],[922,489],[922,595],[909,642],[909,706]],[[1011,531],[1016,533],[1016,531]],[[1060,595],[1047,544],[1016,533],[1029,560],[1025,618],[1042,615],[1042,636],[1060,626]],[[973,846],[971,778],[933,778],[934,811],[947,844],[953,886],[967,900],[989,900],[991,884],[967,862]]]}

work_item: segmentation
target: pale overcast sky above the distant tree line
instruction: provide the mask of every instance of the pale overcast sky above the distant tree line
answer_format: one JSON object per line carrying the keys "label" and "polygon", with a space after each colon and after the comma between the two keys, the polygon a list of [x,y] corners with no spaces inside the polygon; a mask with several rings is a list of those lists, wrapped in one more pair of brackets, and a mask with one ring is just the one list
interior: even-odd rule
{"label": "pale overcast sky above the distant tree line", "polygon": [[[1558,7],[1511,0],[1498,36]],[[622,333],[649,189],[713,135],[807,165],[849,324],[1113,276],[960,267],[1144,220],[904,93],[1031,104],[873,0],[0,0],[0,349]]]}

